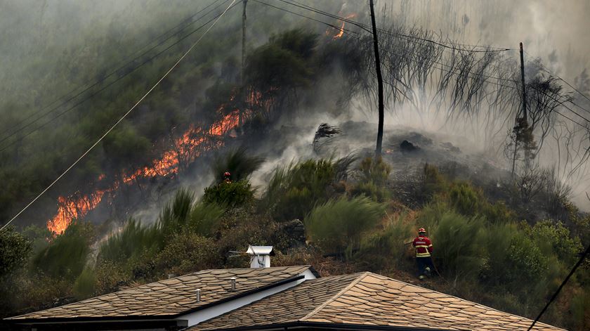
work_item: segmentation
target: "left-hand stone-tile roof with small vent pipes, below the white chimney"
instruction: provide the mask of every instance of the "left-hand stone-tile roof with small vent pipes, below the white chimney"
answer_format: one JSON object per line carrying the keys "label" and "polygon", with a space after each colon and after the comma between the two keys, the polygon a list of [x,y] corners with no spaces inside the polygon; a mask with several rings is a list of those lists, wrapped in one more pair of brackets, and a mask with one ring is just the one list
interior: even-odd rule
{"label": "left-hand stone-tile roof with small vent pipes, below the white chimney", "polygon": [[[315,273],[311,266],[204,270],[6,320],[169,318],[275,286],[309,269]],[[232,277],[236,278],[235,291],[231,291]],[[197,289],[201,290],[199,302],[195,299]]]}

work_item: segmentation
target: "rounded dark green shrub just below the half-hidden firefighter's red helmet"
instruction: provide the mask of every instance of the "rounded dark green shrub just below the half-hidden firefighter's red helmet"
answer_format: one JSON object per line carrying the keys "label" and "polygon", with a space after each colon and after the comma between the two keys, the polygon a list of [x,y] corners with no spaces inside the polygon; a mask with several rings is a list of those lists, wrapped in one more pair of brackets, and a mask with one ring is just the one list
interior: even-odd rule
{"label": "rounded dark green shrub just below the half-hidden firefighter's red helmet", "polygon": [[214,184],[205,188],[202,201],[228,207],[238,207],[254,201],[254,188],[249,181]]}

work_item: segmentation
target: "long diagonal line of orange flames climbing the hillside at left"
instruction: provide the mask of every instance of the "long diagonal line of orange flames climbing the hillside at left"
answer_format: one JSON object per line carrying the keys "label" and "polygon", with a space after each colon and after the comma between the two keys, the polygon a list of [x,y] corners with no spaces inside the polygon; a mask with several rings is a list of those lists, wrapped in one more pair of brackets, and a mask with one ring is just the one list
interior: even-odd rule
{"label": "long diagonal line of orange flames climbing the hillside at left", "polygon": [[[251,98],[255,98],[256,94],[253,94]],[[218,109],[223,111],[224,105]],[[239,123],[240,110],[232,110],[228,115],[225,115],[223,119],[214,122],[206,132],[206,135],[202,134],[202,129],[195,126],[190,126],[184,134],[177,138],[173,148],[167,150],[156,160],[152,161],[149,167],[143,167],[136,171],[132,171],[131,174],[123,176],[122,182],[130,185],[131,182],[138,178],[150,178],[155,176],[168,176],[178,173],[178,162],[184,155],[192,155],[189,157],[190,160],[194,160],[200,155],[201,145],[206,142],[206,136],[220,137],[225,135],[231,129],[235,129]],[[215,143],[217,147],[223,145],[221,140]],[[203,150],[210,149],[210,146],[204,146]],[[98,181],[105,179],[106,175],[101,174],[98,176]],[[69,197],[58,198],[58,212],[53,216],[52,219],[47,221],[47,228],[49,231],[55,234],[64,233],[67,226],[74,219],[80,219],[88,214],[92,209],[95,209],[98,204],[103,200],[106,193],[110,193],[119,188],[119,182],[116,181],[110,188],[105,190],[96,190],[89,195],[82,195],[81,193],[74,193]]]}

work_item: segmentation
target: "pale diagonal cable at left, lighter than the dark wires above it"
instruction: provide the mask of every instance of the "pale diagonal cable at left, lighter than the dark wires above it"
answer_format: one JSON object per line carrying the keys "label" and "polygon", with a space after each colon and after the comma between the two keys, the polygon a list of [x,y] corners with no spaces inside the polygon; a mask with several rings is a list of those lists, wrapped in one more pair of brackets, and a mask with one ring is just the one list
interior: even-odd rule
{"label": "pale diagonal cable at left, lighter than the dark wires above it", "polygon": [[93,145],[90,146],[90,148],[88,150],[86,150],[86,152],[82,153],[82,155],[80,155],[80,157],[78,157],[78,159],[76,161],[74,161],[74,163],[72,163],[72,165],[70,165],[70,167],[68,167],[67,169],[65,169],[65,171],[63,171],[62,174],[60,174],[60,176],[58,176],[57,179],[55,179],[55,181],[53,181],[51,184],[49,184],[49,186],[47,186],[47,188],[45,188],[43,191],[41,191],[41,193],[39,193],[39,195],[37,195],[37,197],[35,197],[31,202],[29,202],[28,205],[26,205],[24,208],[22,208],[20,210],[20,212],[18,212],[18,214],[16,214],[10,221],[8,221],[6,224],[4,224],[4,226],[2,226],[0,228],[0,231],[4,230],[4,228],[6,228],[6,226],[8,226],[10,223],[12,223],[12,221],[14,221],[20,214],[22,214],[22,212],[25,212],[25,210],[27,210],[28,207],[30,207],[35,201],[37,201],[37,199],[39,199],[39,197],[41,197],[41,195],[44,195],[44,193],[47,192],[47,190],[49,190],[53,185],[55,185],[55,183],[57,183],[63,176],[65,176],[65,174],[67,174],[68,171],[70,171],[70,169],[72,169],[73,167],[76,166],[76,164],[78,164],[78,162],[80,162],[80,160],[82,160],[89,152],[91,152],[91,150],[93,150],[93,148],[96,147],[96,145],[98,145],[98,143],[100,143],[100,141],[102,141],[107,134],[110,133],[110,131],[112,131],[119,123],[121,123],[123,121],[123,119],[125,119],[125,117],[127,117],[127,115],[129,115],[131,113],[131,111],[133,111],[133,109],[135,109],[137,107],[137,105],[139,105],[139,103],[141,103],[141,101],[143,101],[143,99],[145,99],[145,97],[147,97],[148,94],[150,94],[155,88],[156,86],[158,86],[163,80],[164,78],[166,78],[168,76],[168,74],[174,70],[174,68],[176,66],[178,66],[178,63],[181,63],[181,61],[188,56],[188,53],[190,53],[190,51],[192,51],[192,48],[195,48],[195,46],[197,46],[197,44],[199,44],[199,41],[201,41],[201,39],[203,39],[203,37],[205,37],[205,35],[211,30],[211,28],[213,28],[216,23],[223,17],[223,15],[225,13],[228,12],[228,10],[230,10],[230,8],[232,8],[233,4],[235,3],[235,1],[237,0],[232,0],[232,3],[230,4],[230,6],[228,6],[228,8],[225,8],[225,11],[223,11],[223,13],[221,13],[220,15],[217,16],[216,20],[213,22],[213,24],[211,24],[207,30],[201,35],[201,37],[199,37],[199,39],[197,39],[197,41],[195,41],[190,48],[188,48],[187,51],[185,51],[185,53],[183,53],[183,56],[181,56],[181,58],[178,58],[178,60],[176,61],[176,63],[174,63],[174,65],[172,65],[172,67],[170,67],[170,69],[168,71],[166,71],[166,73],[164,73],[164,75],[162,76],[162,78],[160,78],[156,84],[154,84],[154,86],[152,86],[151,89],[147,90],[147,92],[135,103],[135,105],[133,105],[129,110],[127,110],[127,112],[121,117],[119,118],[119,120],[117,120],[117,122],[115,122],[106,132],[105,134],[103,134],[103,136],[100,136],[100,138],[98,138],[98,140],[93,143]]}

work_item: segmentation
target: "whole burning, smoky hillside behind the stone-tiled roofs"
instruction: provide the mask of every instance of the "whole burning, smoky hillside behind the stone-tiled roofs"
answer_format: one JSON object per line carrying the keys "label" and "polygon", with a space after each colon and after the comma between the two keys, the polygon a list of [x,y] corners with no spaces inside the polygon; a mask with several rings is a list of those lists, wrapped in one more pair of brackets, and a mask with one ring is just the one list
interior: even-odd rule
{"label": "whole burning, smoky hillside behind the stone-tiled roofs", "polygon": [[[240,1],[142,4],[117,16],[48,2],[37,22],[6,2],[22,17],[1,41],[38,26],[6,52],[26,65],[2,72],[15,84],[0,88],[0,223],[13,221],[0,317],[248,266],[230,252],[273,245],[274,266],[372,271],[535,318],[590,242],[584,70],[568,85],[551,57],[527,55],[526,120],[518,50],[401,24],[409,4],[379,7],[375,155],[365,9],[250,1],[242,72]],[[421,227],[436,266],[422,281],[407,245]],[[542,321],[590,327],[589,268]]]}

